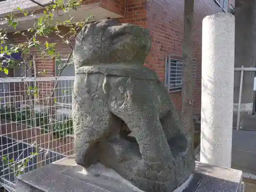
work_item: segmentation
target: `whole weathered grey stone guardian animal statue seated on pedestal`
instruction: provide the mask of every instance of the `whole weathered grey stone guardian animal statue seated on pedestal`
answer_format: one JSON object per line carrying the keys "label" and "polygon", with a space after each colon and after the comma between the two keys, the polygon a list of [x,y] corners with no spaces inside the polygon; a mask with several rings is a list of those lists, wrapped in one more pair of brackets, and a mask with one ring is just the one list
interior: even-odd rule
{"label": "whole weathered grey stone guardian animal statue seated on pedestal", "polygon": [[77,36],[76,162],[99,161],[141,190],[165,192],[188,179],[195,161],[166,88],[143,66],[150,48],[146,29],[116,20],[88,24]]}

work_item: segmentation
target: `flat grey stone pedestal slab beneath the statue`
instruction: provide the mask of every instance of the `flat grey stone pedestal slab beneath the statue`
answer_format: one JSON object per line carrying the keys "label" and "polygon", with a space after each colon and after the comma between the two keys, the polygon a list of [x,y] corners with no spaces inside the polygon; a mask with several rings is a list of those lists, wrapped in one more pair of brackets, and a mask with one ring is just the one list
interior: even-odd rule
{"label": "flat grey stone pedestal slab beneath the statue", "polygon": [[[143,192],[101,164],[88,170],[75,163],[74,157],[19,176],[16,192]],[[195,172],[175,192],[243,192],[241,170],[196,162]],[[161,191],[159,191],[161,192]]]}

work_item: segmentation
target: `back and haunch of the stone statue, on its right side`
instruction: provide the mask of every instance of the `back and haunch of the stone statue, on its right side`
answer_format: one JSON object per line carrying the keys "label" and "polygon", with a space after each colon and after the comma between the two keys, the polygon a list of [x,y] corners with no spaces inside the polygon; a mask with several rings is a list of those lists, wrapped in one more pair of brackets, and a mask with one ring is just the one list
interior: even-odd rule
{"label": "back and haunch of the stone statue, on its right side", "polygon": [[175,105],[169,98],[169,94],[165,92],[165,87],[161,82],[159,82],[159,84],[160,86],[158,88],[162,99],[160,121],[174,157],[177,182],[183,183],[195,168],[194,149],[191,148],[191,142],[193,141],[191,141],[190,136],[184,132]]}

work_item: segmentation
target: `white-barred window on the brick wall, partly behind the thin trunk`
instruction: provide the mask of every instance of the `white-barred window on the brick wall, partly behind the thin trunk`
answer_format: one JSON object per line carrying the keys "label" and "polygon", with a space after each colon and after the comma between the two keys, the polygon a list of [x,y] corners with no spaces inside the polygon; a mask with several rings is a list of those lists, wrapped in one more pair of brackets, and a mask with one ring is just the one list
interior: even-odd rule
{"label": "white-barred window on the brick wall, partly behind the thin trunk", "polygon": [[[182,90],[182,67],[183,60],[182,57],[177,57],[173,55],[166,56],[165,63],[165,86],[170,93],[178,92]],[[193,62],[193,79],[196,75],[196,60]],[[195,86],[195,80],[194,84]]]}

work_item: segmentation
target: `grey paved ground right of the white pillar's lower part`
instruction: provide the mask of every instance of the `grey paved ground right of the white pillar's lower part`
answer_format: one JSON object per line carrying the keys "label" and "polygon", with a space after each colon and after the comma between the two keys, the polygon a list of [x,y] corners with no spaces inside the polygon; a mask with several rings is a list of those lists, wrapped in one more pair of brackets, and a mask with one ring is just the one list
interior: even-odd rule
{"label": "grey paved ground right of the white pillar's lower part", "polygon": [[256,131],[233,129],[232,135],[232,167],[256,175]]}

